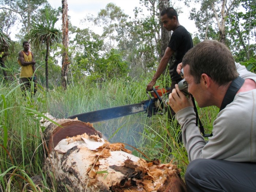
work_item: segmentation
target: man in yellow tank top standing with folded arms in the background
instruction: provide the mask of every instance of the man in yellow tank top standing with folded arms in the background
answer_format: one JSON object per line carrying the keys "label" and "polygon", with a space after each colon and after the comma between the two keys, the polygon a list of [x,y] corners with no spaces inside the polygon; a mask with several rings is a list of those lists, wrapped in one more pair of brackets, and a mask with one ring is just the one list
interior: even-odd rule
{"label": "man in yellow tank top standing with folded arms in the background", "polygon": [[[37,80],[34,75],[35,72],[35,60],[33,53],[29,50],[29,42],[24,41],[23,50],[19,52],[18,63],[21,67],[20,82],[24,83],[22,90],[31,90],[35,94],[37,91]],[[34,75],[34,76],[33,76]],[[31,82],[34,82],[34,89],[31,87]]]}

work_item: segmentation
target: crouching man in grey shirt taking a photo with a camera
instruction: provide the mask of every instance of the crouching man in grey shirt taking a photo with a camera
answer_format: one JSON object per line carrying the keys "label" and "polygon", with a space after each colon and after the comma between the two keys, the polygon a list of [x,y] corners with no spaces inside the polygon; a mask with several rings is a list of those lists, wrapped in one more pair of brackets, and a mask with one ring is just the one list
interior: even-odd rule
{"label": "crouching man in grey shirt taking a photo with a camera", "polygon": [[177,84],[169,95],[188,151],[188,191],[256,191],[256,74],[235,63],[230,50],[213,40],[189,50],[178,73],[181,68],[197,105],[220,109],[206,142],[196,126],[192,96],[187,98]]}

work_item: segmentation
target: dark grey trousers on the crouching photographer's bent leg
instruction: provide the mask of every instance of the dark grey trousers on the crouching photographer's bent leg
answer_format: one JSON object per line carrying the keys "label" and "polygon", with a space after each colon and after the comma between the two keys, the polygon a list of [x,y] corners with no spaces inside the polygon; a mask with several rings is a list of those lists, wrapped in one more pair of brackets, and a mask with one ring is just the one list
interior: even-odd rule
{"label": "dark grey trousers on the crouching photographer's bent leg", "polygon": [[256,163],[196,159],[185,174],[188,192],[256,192]]}

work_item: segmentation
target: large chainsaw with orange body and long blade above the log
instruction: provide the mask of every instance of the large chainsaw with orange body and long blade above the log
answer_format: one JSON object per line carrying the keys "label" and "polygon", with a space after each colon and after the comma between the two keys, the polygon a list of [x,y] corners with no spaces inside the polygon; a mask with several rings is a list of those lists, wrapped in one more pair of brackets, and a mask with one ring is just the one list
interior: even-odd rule
{"label": "large chainsaw with orange body and long blade above the log", "polygon": [[149,99],[140,103],[106,108],[87,113],[80,113],[68,118],[78,118],[78,120],[86,123],[96,123],[99,121],[110,120],[113,118],[123,117],[140,112],[147,113],[148,117],[151,117],[155,114],[163,115],[167,111],[167,101],[170,93],[170,87],[159,89],[159,86],[156,86],[152,89],[152,91],[150,91],[150,94],[148,94],[148,91],[146,91]]}

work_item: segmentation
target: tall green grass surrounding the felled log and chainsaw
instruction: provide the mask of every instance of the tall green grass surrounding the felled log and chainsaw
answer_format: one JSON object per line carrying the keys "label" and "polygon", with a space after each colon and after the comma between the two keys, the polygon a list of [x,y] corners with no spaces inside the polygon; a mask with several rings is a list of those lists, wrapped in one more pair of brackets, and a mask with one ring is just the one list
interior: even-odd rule
{"label": "tall green grass surrounding the felled log and chainsaw", "polygon": [[[17,81],[0,83],[0,191],[57,191],[46,183],[44,151],[40,118],[49,112],[56,118],[90,112],[114,106],[138,103],[148,99],[146,80],[111,80],[88,82],[84,80],[67,90],[57,87],[45,91],[38,87],[35,96],[23,95]],[[162,86],[162,85],[161,85]],[[203,122],[211,127],[210,116],[215,109],[199,111]],[[207,114],[207,115],[205,115]],[[167,114],[147,117],[144,113],[116,118],[94,124],[110,142],[127,143],[138,148],[150,159],[160,159],[162,163],[173,161],[185,173],[188,164],[187,154],[178,142],[180,128],[177,122],[170,123]],[[128,147],[133,150],[132,147]],[[133,154],[144,158],[134,150]],[[42,185],[31,180],[41,176]],[[54,186],[54,184],[53,184]]]}

